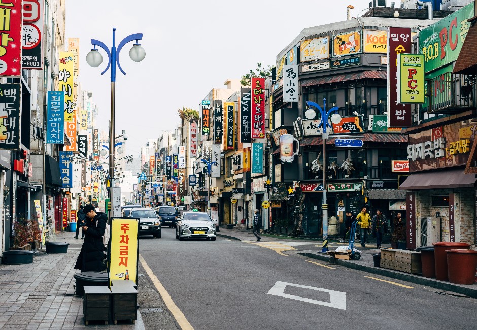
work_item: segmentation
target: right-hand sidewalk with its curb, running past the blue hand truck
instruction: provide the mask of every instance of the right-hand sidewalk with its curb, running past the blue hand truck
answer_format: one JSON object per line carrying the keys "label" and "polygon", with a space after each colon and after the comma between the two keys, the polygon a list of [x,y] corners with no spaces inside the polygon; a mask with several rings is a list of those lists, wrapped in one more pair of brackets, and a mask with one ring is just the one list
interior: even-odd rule
{"label": "right-hand sidewalk with its curb, running past the blue hand truck", "polygon": [[[226,228],[220,228],[220,232],[217,233],[218,236],[221,237],[226,237],[229,239],[235,239],[235,240],[240,240],[240,241],[256,241],[255,236],[252,233],[252,230],[239,230],[239,229],[226,229]],[[280,237],[269,237],[269,236],[264,236],[262,234],[262,239],[260,242],[266,242],[266,241],[274,241],[276,242],[277,240],[282,241],[282,244],[287,244],[287,241],[290,241],[289,239],[283,239]],[[296,239],[299,240],[299,239]],[[321,245],[322,241],[317,240],[316,241],[319,245]],[[336,245],[334,243],[340,244],[338,240],[330,240],[329,244]],[[340,245],[347,245],[348,243],[342,243]],[[374,267],[374,261],[372,255],[374,253],[379,253],[379,249],[376,248],[376,243],[374,244],[366,244],[366,248],[362,248],[358,245],[355,246],[358,250],[360,250],[361,253],[361,258],[358,261],[355,260],[342,260],[342,259],[336,259],[331,257],[329,254],[321,253],[321,249],[315,249],[315,250],[308,250],[308,251],[300,251],[298,254],[325,261],[328,263],[332,263],[335,265],[340,265],[356,270],[360,270],[363,272],[368,272],[372,274],[377,274],[381,276],[387,276],[390,278],[394,278],[397,280],[402,280],[402,281],[407,281],[419,285],[425,285],[429,287],[436,288],[441,291],[450,291],[450,292],[455,292],[458,294],[463,294],[463,295],[468,295],[472,298],[477,298],[477,284],[474,285],[460,285],[460,284],[453,284],[445,281],[439,281],[433,278],[427,278],[423,277],[421,275],[415,275],[415,274],[408,274],[404,272],[399,272],[399,271],[394,271],[390,269],[385,269],[381,267]],[[391,244],[382,244],[382,248],[390,248]],[[334,247],[329,248],[330,251],[334,251]]]}

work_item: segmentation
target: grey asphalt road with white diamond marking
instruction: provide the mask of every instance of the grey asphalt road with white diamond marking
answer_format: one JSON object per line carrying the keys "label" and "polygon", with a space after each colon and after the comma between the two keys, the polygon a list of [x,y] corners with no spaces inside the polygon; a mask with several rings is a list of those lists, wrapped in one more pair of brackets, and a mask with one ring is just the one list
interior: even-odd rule
{"label": "grey asphalt road with white diamond marking", "polygon": [[[140,254],[194,329],[474,329],[477,324],[475,299],[326,265],[280,243],[179,241],[174,230],[163,228],[161,239],[141,239]],[[157,288],[151,277],[149,282]],[[174,315],[177,310],[157,317]]]}

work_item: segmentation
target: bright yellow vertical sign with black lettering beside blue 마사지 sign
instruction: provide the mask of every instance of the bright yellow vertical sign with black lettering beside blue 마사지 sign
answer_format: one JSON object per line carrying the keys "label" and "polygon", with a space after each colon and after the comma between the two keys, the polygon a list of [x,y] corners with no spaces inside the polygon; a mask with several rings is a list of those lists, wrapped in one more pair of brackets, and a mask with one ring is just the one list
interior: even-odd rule
{"label": "bright yellow vertical sign with black lettering beside blue \ub9c8\uc0ac\uc9c0 sign", "polygon": [[64,121],[73,121],[73,52],[59,53],[59,91],[64,92]]}

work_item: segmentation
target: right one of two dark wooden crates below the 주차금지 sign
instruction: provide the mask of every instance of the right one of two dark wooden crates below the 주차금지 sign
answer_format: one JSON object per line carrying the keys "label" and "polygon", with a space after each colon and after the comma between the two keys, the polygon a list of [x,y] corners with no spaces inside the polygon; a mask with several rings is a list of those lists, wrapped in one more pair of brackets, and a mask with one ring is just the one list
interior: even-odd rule
{"label": "right one of two dark wooden crates below the \uc8fc\ucc28\uae08\uc9c0 sign", "polygon": [[113,320],[131,320],[135,324],[137,318],[138,291],[133,286],[112,286]]}

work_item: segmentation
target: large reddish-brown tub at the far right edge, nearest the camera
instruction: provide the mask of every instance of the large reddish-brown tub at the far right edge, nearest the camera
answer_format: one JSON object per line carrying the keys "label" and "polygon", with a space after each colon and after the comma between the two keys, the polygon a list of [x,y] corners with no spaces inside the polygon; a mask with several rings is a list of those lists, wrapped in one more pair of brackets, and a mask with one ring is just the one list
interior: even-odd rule
{"label": "large reddish-brown tub at the far right edge, nearest the camera", "polygon": [[475,284],[477,270],[477,251],[474,250],[447,250],[447,268],[449,282],[455,284]]}

